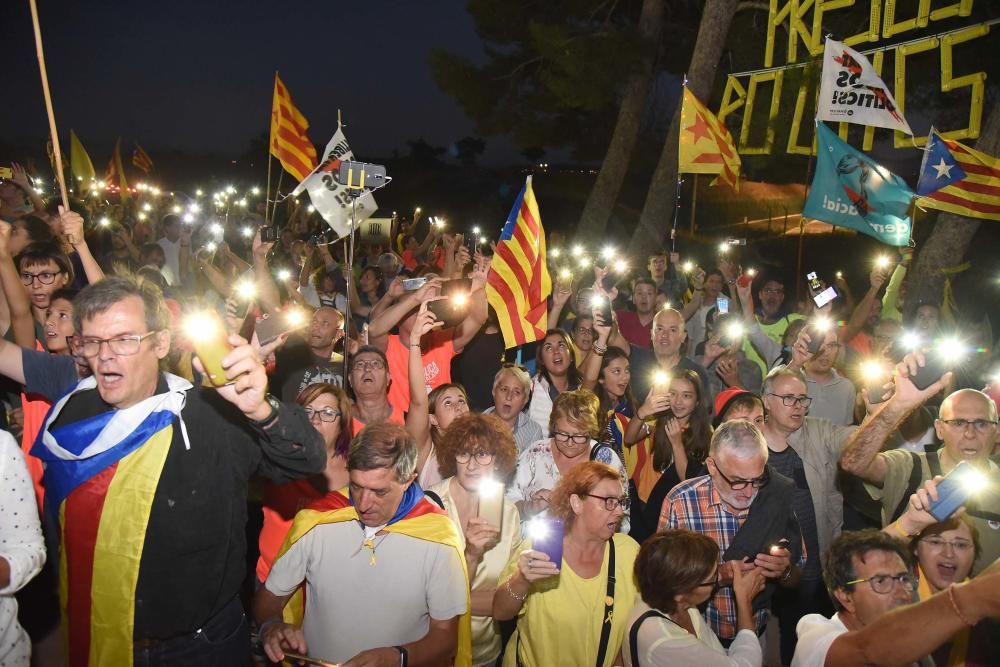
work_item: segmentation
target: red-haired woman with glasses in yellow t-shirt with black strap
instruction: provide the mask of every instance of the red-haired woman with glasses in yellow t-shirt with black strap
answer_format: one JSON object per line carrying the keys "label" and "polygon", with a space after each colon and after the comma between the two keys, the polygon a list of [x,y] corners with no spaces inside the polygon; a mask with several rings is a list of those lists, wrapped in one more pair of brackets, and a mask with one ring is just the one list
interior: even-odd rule
{"label": "red-haired woman with glasses in yellow t-shirt with black strap", "polygon": [[493,615],[517,619],[504,667],[620,664],[639,545],[616,532],[628,502],[619,474],[594,461],[569,471],[552,492],[552,516],[565,528],[561,561],[552,562],[542,538],[529,533],[532,548],[504,569]]}

